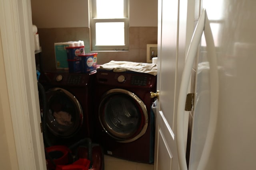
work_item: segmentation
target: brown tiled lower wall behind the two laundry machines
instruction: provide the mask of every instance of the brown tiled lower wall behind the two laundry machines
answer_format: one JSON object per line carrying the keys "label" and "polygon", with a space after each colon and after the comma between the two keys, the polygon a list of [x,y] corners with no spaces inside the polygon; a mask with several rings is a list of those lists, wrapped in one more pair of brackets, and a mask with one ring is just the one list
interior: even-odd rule
{"label": "brown tiled lower wall behind the two laundry machines", "polygon": [[[88,27],[77,28],[38,28],[42,47],[41,68],[55,70],[54,43],[66,41],[84,41],[85,52],[90,52],[90,33]],[[133,61],[146,63],[147,44],[157,44],[157,27],[130,27],[129,51],[98,52],[98,64],[115,61]]]}

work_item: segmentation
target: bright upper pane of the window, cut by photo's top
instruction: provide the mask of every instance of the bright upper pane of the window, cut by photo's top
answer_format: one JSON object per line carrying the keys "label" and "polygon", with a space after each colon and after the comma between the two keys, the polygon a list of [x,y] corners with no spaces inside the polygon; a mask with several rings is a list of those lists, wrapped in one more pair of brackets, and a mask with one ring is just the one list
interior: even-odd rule
{"label": "bright upper pane of the window, cut by photo's top", "polygon": [[97,0],[96,18],[124,18],[123,0]]}

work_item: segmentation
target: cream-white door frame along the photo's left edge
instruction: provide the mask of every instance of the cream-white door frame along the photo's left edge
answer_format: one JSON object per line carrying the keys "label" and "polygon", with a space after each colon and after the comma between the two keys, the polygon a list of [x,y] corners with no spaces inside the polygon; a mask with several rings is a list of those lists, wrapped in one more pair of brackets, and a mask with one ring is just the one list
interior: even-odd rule
{"label": "cream-white door frame along the photo's left edge", "polygon": [[0,0],[0,34],[18,167],[43,170],[30,0]]}

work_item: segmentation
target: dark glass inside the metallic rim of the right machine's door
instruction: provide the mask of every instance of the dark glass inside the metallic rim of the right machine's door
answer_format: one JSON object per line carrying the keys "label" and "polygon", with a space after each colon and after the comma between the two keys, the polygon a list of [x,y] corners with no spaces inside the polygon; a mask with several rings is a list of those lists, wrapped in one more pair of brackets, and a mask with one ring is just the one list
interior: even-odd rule
{"label": "dark glass inside the metallic rim of the right machine's door", "polygon": [[100,105],[102,126],[118,140],[128,140],[138,135],[144,126],[144,119],[140,106],[126,94],[110,94]]}

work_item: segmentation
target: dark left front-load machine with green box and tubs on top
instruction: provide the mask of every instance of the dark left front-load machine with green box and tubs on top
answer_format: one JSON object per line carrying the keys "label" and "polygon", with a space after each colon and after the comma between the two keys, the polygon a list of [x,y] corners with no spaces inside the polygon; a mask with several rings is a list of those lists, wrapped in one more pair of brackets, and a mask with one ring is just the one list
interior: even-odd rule
{"label": "dark left front-load machine with green box and tubs on top", "polygon": [[[44,72],[39,82],[45,89],[48,111],[44,144],[74,145],[92,134],[91,82],[95,74]],[[41,107],[42,108],[42,107]],[[41,112],[42,113],[42,112]]]}

